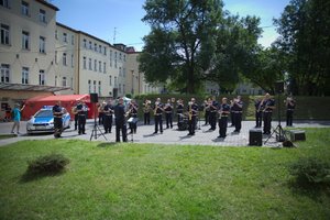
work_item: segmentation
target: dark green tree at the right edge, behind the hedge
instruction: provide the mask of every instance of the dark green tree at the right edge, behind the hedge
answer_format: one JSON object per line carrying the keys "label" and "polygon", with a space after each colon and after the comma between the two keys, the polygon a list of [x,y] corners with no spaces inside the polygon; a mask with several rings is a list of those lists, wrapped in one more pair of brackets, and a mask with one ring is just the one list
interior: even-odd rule
{"label": "dark green tree at the right edge, behind the hedge", "polygon": [[330,95],[330,1],[292,0],[274,20],[297,95]]}

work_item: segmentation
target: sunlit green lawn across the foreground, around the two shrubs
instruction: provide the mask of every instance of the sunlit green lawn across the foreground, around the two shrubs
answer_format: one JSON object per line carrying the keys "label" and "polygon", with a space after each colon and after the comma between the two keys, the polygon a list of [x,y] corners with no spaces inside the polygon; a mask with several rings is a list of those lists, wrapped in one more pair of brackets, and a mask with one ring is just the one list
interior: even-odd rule
{"label": "sunlit green lawn across the foreground, around the two shrubs", "polygon": [[[330,161],[330,129],[297,148],[23,141],[0,147],[0,219],[329,219],[330,191],[296,188],[288,165]],[[24,178],[59,153],[65,173]]]}

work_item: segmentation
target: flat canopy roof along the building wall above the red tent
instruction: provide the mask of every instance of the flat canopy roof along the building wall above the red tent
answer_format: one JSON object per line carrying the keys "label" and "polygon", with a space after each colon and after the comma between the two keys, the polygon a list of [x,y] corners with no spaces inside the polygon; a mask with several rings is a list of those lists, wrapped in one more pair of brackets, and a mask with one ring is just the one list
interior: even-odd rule
{"label": "flat canopy roof along the building wall above the red tent", "polygon": [[41,86],[26,84],[0,84],[0,90],[19,90],[19,91],[61,91],[67,90],[69,87]]}

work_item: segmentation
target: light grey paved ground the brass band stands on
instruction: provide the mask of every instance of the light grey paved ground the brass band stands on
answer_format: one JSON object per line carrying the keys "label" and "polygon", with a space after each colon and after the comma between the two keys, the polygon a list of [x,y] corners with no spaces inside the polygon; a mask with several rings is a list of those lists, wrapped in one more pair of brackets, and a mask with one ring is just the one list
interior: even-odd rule
{"label": "light grey paved ground the brass band stands on", "polygon": [[[165,129],[163,134],[153,134],[154,125],[143,125],[139,124],[138,133],[129,135],[129,141],[134,143],[156,143],[156,144],[191,144],[191,145],[219,145],[219,146],[248,146],[249,145],[249,131],[254,128],[254,121],[243,121],[242,122],[242,130],[240,133],[233,133],[234,128],[228,128],[227,138],[218,139],[219,129],[217,127],[216,131],[208,131],[209,125],[204,125],[204,122],[200,122],[199,129],[196,130],[196,135],[188,136],[188,131],[177,131],[177,127],[175,123],[174,129]],[[273,127],[276,128],[278,122],[273,122]],[[282,124],[285,124],[282,122]],[[12,127],[12,122],[2,122],[0,123],[0,133],[1,134],[9,134]],[[165,125],[166,127],[166,125]],[[14,143],[22,140],[47,140],[54,139],[53,134],[34,134],[28,135],[26,134],[26,122],[21,122],[21,134],[16,138],[0,140],[0,146]],[[88,120],[87,122],[87,134],[78,135],[78,132],[69,129],[63,132],[62,139],[78,139],[78,140],[86,140],[89,141],[91,136],[91,132],[94,129],[94,120]],[[101,131],[103,131],[102,127],[99,127]],[[330,128],[330,121],[295,121],[294,129],[299,128]],[[112,133],[105,134],[107,140],[102,135],[99,135],[97,139],[92,136],[91,141],[102,141],[102,142],[114,142],[116,141],[116,128],[112,128]],[[98,134],[100,132],[98,131]],[[268,136],[263,136],[263,142]],[[267,141],[265,146],[280,146],[279,142],[276,142],[275,134]]]}

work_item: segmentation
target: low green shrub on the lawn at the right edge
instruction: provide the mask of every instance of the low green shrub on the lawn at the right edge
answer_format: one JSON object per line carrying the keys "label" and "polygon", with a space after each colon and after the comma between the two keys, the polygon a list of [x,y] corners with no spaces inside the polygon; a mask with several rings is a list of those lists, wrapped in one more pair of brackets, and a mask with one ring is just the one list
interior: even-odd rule
{"label": "low green shrub on the lawn at the right edge", "polygon": [[289,170],[299,186],[330,185],[330,165],[318,158],[300,158],[290,165]]}

